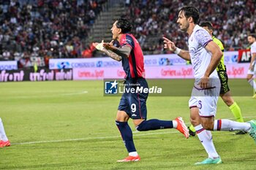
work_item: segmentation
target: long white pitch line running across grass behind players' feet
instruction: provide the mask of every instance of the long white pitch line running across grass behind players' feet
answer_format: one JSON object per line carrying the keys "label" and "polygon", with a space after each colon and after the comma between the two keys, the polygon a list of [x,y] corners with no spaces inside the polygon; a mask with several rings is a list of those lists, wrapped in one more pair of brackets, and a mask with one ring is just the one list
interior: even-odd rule
{"label": "long white pitch line running across grass behind players' feet", "polygon": [[[252,118],[256,116],[246,116],[244,118]],[[223,119],[223,118],[222,118]],[[233,117],[225,118],[225,119],[234,119]],[[190,123],[186,123],[190,125]],[[165,132],[157,132],[157,133],[146,133],[140,134],[143,132],[133,131],[133,136],[149,136],[149,135],[158,135],[158,134],[176,134],[179,133],[178,131],[165,131]],[[102,136],[102,137],[89,137],[89,138],[77,138],[77,139],[59,139],[59,140],[49,140],[49,141],[34,141],[34,142],[22,142],[22,143],[12,143],[15,144],[43,144],[43,143],[56,143],[56,142],[71,142],[71,141],[86,141],[86,140],[93,140],[93,139],[115,139],[120,138],[120,136]]]}

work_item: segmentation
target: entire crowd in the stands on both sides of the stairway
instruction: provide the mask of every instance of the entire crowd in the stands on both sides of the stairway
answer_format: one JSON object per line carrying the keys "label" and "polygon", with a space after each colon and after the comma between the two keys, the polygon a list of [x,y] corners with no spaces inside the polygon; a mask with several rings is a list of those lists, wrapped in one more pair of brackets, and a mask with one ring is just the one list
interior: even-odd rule
{"label": "entire crowd in the stands on both sides of the stairway", "polygon": [[[91,57],[84,40],[102,4],[108,0],[0,0],[0,60]],[[256,31],[254,0],[126,0],[124,15],[134,23],[133,33],[145,53],[165,53],[162,36],[187,48],[187,35],[176,23],[178,9],[194,5],[201,20],[213,23],[225,50],[248,45],[246,35]],[[22,59],[22,60],[21,60]]]}

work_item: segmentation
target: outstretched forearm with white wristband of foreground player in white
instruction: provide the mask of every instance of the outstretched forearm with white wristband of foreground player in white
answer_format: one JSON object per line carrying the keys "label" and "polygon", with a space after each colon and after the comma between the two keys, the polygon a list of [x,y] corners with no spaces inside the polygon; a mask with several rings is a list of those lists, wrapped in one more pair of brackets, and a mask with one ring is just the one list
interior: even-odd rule
{"label": "outstretched forearm with white wristband of foreground player in white", "polygon": [[190,61],[189,51],[179,49],[178,47],[175,46],[174,42],[170,41],[170,39],[167,39],[165,37],[162,37],[162,39],[164,39],[165,49],[170,50],[173,53],[176,53],[178,56],[180,56],[184,60]]}

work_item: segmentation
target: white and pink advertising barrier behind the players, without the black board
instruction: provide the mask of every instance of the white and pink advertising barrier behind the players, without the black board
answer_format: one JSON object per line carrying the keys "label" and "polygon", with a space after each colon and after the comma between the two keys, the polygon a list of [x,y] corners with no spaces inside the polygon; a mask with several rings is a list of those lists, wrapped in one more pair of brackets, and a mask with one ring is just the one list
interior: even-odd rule
{"label": "white and pink advertising barrier behind the players, without the black board", "polygon": [[[225,52],[225,64],[230,78],[245,78],[249,64],[248,50]],[[192,79],[192,65],[176,54],[145,55],[146,78]],[[73,69],[74,80],[121,79],[125,73],[121,62],[112,58],[50,59],[50,69]]]}

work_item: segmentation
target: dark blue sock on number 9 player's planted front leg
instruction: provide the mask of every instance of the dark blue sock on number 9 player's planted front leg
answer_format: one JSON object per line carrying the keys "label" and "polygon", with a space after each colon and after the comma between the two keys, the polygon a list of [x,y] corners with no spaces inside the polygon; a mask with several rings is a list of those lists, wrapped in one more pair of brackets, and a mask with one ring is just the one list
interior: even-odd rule
{"label": "dark blue sock on number 9 player's planted front leg", "polygon": [[132,139],[132,129],[129,127],[127,122],[116,121],[117,128],[120,131],[125,147],[128,152],[136,152],[135,144]]}

